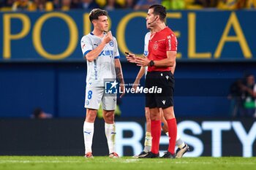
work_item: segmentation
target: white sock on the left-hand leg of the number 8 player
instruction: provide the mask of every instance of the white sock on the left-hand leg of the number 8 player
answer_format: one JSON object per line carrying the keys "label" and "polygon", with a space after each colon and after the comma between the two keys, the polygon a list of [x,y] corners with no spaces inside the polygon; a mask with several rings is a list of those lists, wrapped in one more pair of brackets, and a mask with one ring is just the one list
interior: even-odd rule
{"label": "white sock on the left-hand leg of the number 8 player", "polygon": [[92,152],[91,144],[92,144],[93,136],[94,136],[94,123],[89,123],[85,121],[83,123],[83,139],[84,139],[84,146],[86,148],[85,153]]}

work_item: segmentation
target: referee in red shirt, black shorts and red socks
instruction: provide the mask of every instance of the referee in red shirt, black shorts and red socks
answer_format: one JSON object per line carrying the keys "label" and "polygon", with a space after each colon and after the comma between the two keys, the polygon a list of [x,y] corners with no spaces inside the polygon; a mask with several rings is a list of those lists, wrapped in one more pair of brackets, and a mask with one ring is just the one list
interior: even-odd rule
{"label": "referee in red shirt, black shorts and red socks", "polygon": [[151,119],[151,152],[143,158],[159,157],[159,140],[161,136],[161,114],[167,121],[169,134],[169,147],[162,158],[175,158],[175,144],[177,136],[177,124],[173,110],[174,77],[171,72],[176,64],[177,39],[173,31],[165,25],[166,9],[162,5],[155,4],[149,7],[146,23],[152,29],[148,42],[148,57],[134,58],[129,61],[137,63],[137,66],[148,66],[146,75],[146,88],[160,87],[162,93],[146,93],[146,107],[149,108]]}

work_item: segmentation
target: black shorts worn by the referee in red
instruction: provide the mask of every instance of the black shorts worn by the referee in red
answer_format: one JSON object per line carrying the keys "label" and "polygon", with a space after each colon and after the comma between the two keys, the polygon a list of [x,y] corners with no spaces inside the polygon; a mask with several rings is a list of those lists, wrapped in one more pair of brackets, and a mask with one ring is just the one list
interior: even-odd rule
{"label": "black shorts worn by the referee in red", "polygon": [[173,107],[174,77],[172,72],[148,72],[145,88],[162,88],[162,93],[146,93],[146,107],[150,109]]}

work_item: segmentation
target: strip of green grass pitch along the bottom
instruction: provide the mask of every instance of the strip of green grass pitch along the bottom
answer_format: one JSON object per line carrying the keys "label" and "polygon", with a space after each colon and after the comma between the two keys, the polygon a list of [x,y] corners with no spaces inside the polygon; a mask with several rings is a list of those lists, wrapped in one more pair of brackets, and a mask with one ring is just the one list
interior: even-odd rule
{"label": "strip of green grass pitch along the bottom", "polygon": [[122,157],[94,157],[86,159],[83,156],[0,156],[0,170],[42,169],[42,170],[211,170],[211,169],[256,169],[256,158],[224,157],[224,158],[181,158],[181,159],[136,159]]}

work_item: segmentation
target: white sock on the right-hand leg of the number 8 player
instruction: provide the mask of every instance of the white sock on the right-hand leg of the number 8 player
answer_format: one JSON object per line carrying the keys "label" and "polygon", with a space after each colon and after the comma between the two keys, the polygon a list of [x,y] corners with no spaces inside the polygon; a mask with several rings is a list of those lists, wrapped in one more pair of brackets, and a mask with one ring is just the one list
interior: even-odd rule
{"label": "white sock on the right-hand leg of the number 8 player", "polygon": [[108,151],[109,153],[115,152],[115,144],[116,144],[116,125],[105,123],[105,134],[108,140]]}

